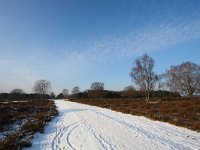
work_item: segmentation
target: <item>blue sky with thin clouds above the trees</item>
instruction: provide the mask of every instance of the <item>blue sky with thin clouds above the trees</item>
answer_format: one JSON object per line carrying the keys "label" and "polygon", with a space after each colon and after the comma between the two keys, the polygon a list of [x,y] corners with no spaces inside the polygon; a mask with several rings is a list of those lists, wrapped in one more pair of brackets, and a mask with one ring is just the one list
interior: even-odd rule
{"label": "blue sky with thin clouds above the trees", "polygon": [[0,92],[50,80],[52,91],[122,90],[143,53],[155,72],[200,64],[199,0],[0,0]]}

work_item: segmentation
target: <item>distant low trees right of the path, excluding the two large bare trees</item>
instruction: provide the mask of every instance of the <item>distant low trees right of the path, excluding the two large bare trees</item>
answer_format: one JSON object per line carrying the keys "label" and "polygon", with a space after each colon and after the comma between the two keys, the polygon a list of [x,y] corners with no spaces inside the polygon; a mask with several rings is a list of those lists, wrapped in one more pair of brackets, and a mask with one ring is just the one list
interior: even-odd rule
{"label": "distant low trees right of the path, excluding the two large bare trees", "polygon": [[[74,90],[78,89],[78,90]],[[76,92],[74,92],[76,91]],[[179,97],[180,94],[177,92],[170,91],[151,91],[149,93],[151,97]],[[133,86],[127,86],[123,91],[109,91],[104,89],[104,83],[94,82],[91,84],[90,89],[80,92],[79,87],[74,87],[71,95],[67,98],[144,98],[145,92],[136,90]],[[63,93],[57,96],[58,99],[64,98]]]}

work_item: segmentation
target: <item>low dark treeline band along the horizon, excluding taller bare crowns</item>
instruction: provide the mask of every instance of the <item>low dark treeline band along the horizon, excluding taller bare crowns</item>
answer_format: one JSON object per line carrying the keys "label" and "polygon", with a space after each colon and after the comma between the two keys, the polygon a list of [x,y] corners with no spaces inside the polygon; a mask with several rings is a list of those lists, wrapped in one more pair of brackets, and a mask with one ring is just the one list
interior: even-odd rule
{"label": "low dark treeline band along the horizon, excluding taller bare crowns", "polygon": [[[150,94],[152,98],[162,98],[162,97],[180,97],[179,93],[170,91],[152,91]],[[51,97],[49,94],[44,94],[42,99],[64,99],[64,98],[145,98],[145,93],[143,91],[94,91],[86,90],[76,94],[71,94],[64,96],[63,93],[58,94],[55,97]],[[0,101],[6,100],[33,100],[41,99],[41,95],[37,93],[0,93]]]}

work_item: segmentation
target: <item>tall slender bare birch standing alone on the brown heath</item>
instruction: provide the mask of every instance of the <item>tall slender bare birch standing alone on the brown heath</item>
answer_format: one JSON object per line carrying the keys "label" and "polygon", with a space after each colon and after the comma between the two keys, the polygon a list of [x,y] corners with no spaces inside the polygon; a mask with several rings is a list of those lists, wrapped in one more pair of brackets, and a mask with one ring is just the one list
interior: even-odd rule
{"label": "tall slender bare birch standing alone on the brown heath", "polygon": [[140,90],[145,91],[146,101],[149,102],[150,92],[154,90],[158,76],[153,72],[153,58],[147,54],[137,58],[131,70],[130,76]]}

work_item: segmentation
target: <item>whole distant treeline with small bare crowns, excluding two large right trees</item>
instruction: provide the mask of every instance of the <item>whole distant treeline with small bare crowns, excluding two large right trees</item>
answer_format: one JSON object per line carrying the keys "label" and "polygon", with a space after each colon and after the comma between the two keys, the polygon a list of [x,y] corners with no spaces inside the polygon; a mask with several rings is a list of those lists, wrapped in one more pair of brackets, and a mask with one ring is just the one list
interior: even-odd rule
{"label": "whole distant treeline with small bare crowns, excluding two large right trees", "polygon": [[[42,81],[42,82],[41,82]],[[33,99],[72,99],[72,98],[145,98],[146,93],[143,90],[136,90],[133,86],[127,86],[122,91],[112,91],[105,90],[104,83],[102,82],[93,82],[90,86],[90,89],[85,91],[80,91],[78,86],[75,86],[69,94],[67,89],[57,96],[54,92],[48,92],[50,82],[45,80],[36,81],[37,87],[45,87],[40,92],[26,94],[22,89],[13,89],[10,93],[0,93],[0,101],[12,101],[12,100],[33,100]],[[38,84],[40,86],[38,86]],[[46,85],[48,84],[48,86]],[[46,88],[48,87],[48,88]],[[39,89],[39,88],[37,88]],[[35,91],[36,92],[36,91]],[[152,90],[149,95],[151,98],[163,98],[163,97],[180,97],[180,93],[166,91],[166,90]]]}

